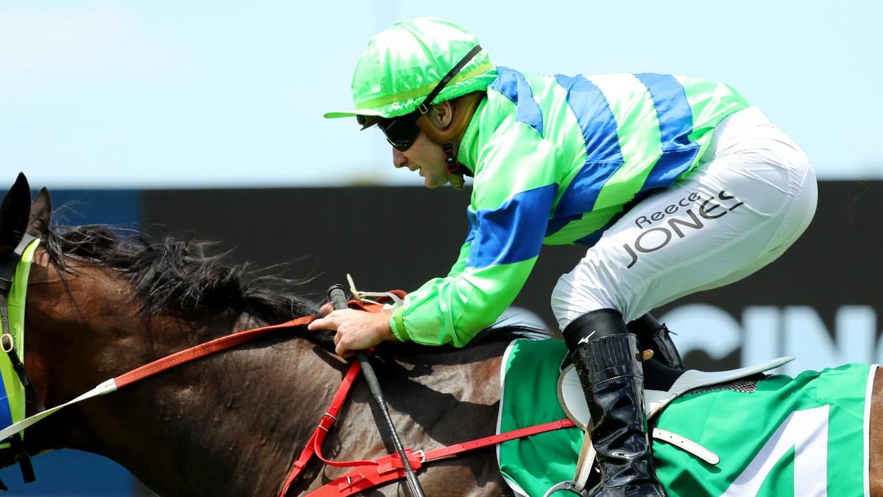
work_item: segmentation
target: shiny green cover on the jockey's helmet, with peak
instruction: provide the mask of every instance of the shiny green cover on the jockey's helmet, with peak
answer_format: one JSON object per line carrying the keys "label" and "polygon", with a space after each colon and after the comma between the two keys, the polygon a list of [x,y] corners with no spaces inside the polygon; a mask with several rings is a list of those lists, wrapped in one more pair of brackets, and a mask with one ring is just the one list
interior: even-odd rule
{"label": "shiny green cover on the jockey's helmet, with peak", "polygon": [[[375,34],[352,75],[355,111],[328,112],[326,118],[354,115],[394,118],[417,109],[439,81],[479,44],[474,35],[448,19],[398,20]],[[484,90],[496,69],[481,50],[436,96],[444,102]]]}

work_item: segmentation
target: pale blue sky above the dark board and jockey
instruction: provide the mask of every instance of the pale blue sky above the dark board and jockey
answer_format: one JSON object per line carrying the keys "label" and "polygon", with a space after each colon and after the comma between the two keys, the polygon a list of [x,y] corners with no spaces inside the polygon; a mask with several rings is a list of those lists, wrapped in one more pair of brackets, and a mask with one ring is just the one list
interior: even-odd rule
{"label": "pale blue sky above the dark board and jockey", "polygon": [[57,188],[419,185],[378,132],[321,114],[351,106],[369,37],[420,15],[523,71],[726,81],[819,178],[883,179],[883,8],[794,0],[6,1],[0,170]]}

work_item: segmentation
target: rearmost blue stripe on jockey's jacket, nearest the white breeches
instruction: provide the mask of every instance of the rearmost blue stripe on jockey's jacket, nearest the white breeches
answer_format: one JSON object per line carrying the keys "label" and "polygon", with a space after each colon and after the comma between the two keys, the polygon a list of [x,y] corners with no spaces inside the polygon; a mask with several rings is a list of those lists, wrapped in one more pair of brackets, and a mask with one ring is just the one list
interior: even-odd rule
{"label": "rearmost blue stripe on jockey's jacket, nearest the white breeches", "polygon": [[688,138],[693,132],[693,111],[681,83],[670,74],[635,74],[650,92],[660,123],[662,155],[647,176],[641,191],[670,187],[690,168],[699,144]]}

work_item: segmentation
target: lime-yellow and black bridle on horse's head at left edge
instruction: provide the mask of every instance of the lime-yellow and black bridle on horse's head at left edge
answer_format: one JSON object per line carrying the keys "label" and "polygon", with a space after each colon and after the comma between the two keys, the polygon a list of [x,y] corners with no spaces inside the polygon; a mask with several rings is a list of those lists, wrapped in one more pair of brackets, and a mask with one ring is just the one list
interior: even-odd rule
{"label": "lime-yellow and black bridle on horse's head at left edge", "polygon": [[[2,348],[5,353],[5,357],[0,356],[0,361],[8,361],[9,364],[11,364],[12,371],[15,371],[16,375],[19,377],[19,383],[21,384],[21,389],[24,390],[27,403],[33,405],[34,409],[40,413],[46,410],[46,408],[43,406],[40,394],[37,394],[34,384],[31,383],[31,379],[27,377],[25,364],[22,363],[21,356],[19,355],[19,349],[24,344],[24,322],[19,323],[19,326],[16,328],[11,328],[9,317],[9,296],[12,290],[13,277],[15,276],[15,271],[19,267],[19,262],[21,261],[26,248],[30,247],[32,243],[34,244],[34,248],[36,248],[36,245],[40,243],[40,240],[29,234],[25,234],[21,241],[19,241],[19,245],[0,261],[0,324],[2,324],[3,332],[3,334],[0,335],[0,348]],[[20,302],[20,305],[24,308],[24,302]],[[17,387],[13,388],[18,390]],[[12,413],[11,419],[13,422],[16,421],[15,416],[16,415]],[[24,443],[22,442],[23,433],[24,431],[12,434],[11,437],[5,441],[5,443],[8,444],[8,447],[0,446],[0,450],[12,451],[13,458],[16,463],[19,463],[19,467],[21,468],[22,478],[25,480],[25,483],[31,483],[36,479],[34,477],[34,465],[31,463],[31,457],[27,454]],[[4,485],[3,480],[0,480],[0,490],[9,490],[9,488]]]}

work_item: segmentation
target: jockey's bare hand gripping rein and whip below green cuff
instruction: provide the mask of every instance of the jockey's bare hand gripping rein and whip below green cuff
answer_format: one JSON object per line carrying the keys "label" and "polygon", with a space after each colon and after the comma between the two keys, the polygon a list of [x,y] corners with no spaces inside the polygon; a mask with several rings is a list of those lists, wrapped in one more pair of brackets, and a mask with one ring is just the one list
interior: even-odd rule
{"label": "jockey's bare hand gripping rein and whip below green cuff", "polygon": [[356,350],[372,348],[383,340],[398,340],[389,328],[392,310],[366,312],[364,310],[340,309],[316,319],[308,326],[317,330],[336,331],[335,352],[338,356],[352,356]]}

